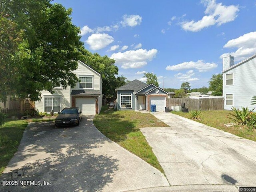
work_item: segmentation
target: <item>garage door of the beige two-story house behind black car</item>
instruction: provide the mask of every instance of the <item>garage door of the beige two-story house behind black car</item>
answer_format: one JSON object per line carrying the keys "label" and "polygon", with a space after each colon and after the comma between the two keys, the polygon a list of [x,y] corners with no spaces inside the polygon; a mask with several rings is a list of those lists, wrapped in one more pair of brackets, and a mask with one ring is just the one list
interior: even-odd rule
{"label": "garage door of the beige two-story house behind black car", "polygon": [[76,106],[82,110],[83,115],[95,115],[95,98],[76,98]]}

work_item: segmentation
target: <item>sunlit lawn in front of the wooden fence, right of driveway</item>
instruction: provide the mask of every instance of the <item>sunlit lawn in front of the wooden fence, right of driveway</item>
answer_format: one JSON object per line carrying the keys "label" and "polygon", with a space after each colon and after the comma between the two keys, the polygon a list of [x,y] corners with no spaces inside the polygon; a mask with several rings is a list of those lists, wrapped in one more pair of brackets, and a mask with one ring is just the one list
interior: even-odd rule
{"label": "sunlit lawn in front of the wooden fence, right of driveway", "polygon": [[[183,113],[183,112],[176,112],[176,111],[173,111],[172,113],[186,117],[186,118],[191,117],[190,113]],[[231,134],[234,134],[242,138],[256,141],[256,131],[240,128],[238,126],[227,127],[224,125],[232,122],[232,120],[228,118],[228,116],[230,116],[231,113],[233,112],[228,110],[201,111],[201,114],[200,114],[201,121],[200,120],[195,120],[195,121],[229,132]]]}

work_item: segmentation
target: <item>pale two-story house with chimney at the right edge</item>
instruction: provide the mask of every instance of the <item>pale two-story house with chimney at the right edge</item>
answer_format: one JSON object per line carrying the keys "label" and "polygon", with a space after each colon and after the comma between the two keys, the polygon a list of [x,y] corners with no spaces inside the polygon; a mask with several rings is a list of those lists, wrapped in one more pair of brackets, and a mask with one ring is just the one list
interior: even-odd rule
{"label": "pale two-story house with chimney at the right edge", "polygon": [[224,110],[243,106],[250,110],[255,108],[251,99],[256,95],[256,54],[238,64],[234,64],[233,56],[224,56],[222,74]]}

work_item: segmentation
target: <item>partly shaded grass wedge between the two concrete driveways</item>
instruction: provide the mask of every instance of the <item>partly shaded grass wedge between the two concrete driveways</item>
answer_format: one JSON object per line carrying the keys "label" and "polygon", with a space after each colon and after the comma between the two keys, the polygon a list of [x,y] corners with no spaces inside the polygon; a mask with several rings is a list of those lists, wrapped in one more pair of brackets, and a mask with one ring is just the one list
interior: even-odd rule
{"label": "partly shaded grass wedge between the two concrete driveways", "polygon": [[100,114],[95,116],[93,123],[96,128],[112,141],[164,173],[140,128],[168,125],[157,121],[158,119],[149,113],[142,114],[132,110],[114,111],[113,109],[105,112],[105,110],[107,108],[103,106]]}

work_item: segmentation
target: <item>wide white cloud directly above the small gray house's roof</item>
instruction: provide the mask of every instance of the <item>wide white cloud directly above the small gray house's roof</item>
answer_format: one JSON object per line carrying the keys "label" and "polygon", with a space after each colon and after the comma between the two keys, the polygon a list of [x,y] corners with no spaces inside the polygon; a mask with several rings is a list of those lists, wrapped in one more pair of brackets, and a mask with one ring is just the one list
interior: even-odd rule
{"label": "wide white cloud directly above the small gray house's roof", "polygon": [[110,58],[116,61],[116,64],[122,65],[122,68],[140,68],[147,64],[147,61],[151,61],[157,54],[158,50],[151,49],[138,49],[129,50],[126,52],[118,52],[112,54]]}

